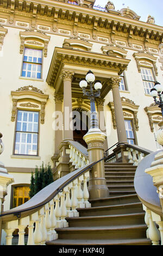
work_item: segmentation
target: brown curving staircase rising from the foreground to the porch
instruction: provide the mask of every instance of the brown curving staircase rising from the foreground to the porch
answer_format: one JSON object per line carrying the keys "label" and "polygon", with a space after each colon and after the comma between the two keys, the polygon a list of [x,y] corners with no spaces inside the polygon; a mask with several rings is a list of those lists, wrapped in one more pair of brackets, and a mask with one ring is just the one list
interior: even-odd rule
{"label": "brown curving staircase rising from the foreground to the porch", "polygon": [[47,245],[151,245],[142,203],[134,190],[136,167],[105,163],[110,197],[90,200],[79,217],[68,217],[66,228],[57,228],[59,238]]}

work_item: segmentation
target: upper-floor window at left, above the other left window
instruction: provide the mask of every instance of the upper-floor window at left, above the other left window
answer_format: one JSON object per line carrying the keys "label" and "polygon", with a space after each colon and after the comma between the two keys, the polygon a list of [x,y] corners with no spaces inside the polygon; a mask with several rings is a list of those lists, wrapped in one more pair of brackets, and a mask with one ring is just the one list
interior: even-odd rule
{"label": "upper-floor window at left, above the other left window", "polygon": [[42,50],[25,48],[23,58],[22,76],[41,78]]}

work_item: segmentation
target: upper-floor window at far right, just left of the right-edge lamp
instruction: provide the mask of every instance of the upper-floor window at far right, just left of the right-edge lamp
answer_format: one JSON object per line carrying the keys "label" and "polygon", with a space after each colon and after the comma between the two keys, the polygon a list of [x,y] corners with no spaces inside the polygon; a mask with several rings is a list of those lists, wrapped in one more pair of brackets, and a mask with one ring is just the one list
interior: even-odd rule
{"label": "upper-floor window at far right, just left of the right-edge lamp", "polygon": [[145,88],[145,93],[150,94],[151,89],[154,88],[154,77],[152,69],[141,68],[141,76],[143,80],[143,85]]}

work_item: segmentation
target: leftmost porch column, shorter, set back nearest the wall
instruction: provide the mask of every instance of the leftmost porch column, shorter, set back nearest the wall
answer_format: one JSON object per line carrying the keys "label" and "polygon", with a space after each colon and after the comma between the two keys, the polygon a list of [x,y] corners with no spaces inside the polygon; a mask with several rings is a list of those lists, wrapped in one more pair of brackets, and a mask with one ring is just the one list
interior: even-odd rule
{"label": "leftmost porch column, shorter, set back nearest the wall", "polygon": [[[62,142],[62,101],[64,99],[64,95],[61,93],[54,93],[54,101],[55,101],[55,113],[56,117],[59,119],[59,127],[55,127],[55,154],[59,153],[59,145]],[[56,124],[57,125],[57,124]]]}

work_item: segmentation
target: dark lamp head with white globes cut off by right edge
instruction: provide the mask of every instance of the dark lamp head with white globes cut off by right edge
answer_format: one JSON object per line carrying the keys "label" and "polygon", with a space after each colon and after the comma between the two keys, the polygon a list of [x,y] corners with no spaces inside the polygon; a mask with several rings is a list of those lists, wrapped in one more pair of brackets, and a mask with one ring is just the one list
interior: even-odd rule
{"label": "dark lamp head with white globes cut off by right edge", "polygon": [[[156,103],[156,105],[158,105],[158,107],[161,108],[162,117],[163,117],[162,94],[163,94],[163,86],[160,83],[155,82],[154,88],[151,89],[151,96],[153,97],[154,102]],[[159,100],[156,100],[156,97],[158,97],[158,96],[159,96]]]}

